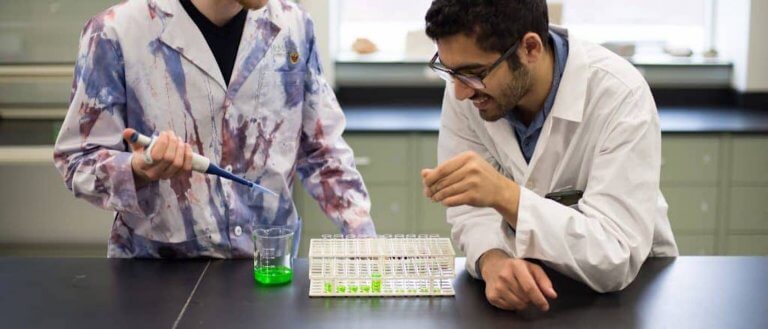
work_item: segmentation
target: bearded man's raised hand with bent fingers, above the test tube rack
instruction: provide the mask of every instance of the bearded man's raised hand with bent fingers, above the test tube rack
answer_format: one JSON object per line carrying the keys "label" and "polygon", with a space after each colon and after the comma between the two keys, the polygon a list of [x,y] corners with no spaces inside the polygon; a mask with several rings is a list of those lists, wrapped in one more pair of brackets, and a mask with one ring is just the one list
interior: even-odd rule
{"label": "bearded man's raised hand with bent fingers, above the test tube rack", "polygon": [[435,169],[423,169],[424,195],[446,207],[492,207],[513,226],[520,186],[475,152],[464,152]]}

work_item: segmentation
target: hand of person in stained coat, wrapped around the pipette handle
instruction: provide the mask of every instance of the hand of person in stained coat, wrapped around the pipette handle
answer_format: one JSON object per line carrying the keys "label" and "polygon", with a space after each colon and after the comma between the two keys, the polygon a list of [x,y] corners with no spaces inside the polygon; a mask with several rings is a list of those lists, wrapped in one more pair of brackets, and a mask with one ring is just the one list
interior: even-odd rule
{"label": "hand of person in stained coat, wrapped around the pipette handle", "polygon": [[[133,129],[125,129],[123,138],[130,143]],[[192,147],[177,137],[173,131],[163,131],[155,140],[149,156],[152,163],[144,161],[144,146],[131,144],[133,157],[131,168],[136,187],[142,187],[152,181],[168,179],[192,170]]]}

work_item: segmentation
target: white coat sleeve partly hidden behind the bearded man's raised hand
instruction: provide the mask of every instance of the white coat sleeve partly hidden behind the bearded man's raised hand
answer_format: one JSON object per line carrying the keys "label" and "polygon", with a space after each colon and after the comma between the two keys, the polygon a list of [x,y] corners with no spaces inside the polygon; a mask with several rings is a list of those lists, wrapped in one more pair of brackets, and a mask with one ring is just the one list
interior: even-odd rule
{"label": "white coat sleeve partly hidden behind the bearded man's raised hand", "polygon": [[[437,142],[438,163],[449,160],[460,153],[473,151],[491,165],[499,168],[491,153],[472,130],[470,119],[462,113],[453,93],[452,83],[446,84],[443,97],[443,109],[440,118],[440,135]],[[448,223],[451,225],[451,238],[466,255],[466,267],[470,275],[480,278],[477,260],[491,249],[507,248],[499,226],[504,223],[501,214],[493,208],[472,206],[449,207],[446,210]]]}

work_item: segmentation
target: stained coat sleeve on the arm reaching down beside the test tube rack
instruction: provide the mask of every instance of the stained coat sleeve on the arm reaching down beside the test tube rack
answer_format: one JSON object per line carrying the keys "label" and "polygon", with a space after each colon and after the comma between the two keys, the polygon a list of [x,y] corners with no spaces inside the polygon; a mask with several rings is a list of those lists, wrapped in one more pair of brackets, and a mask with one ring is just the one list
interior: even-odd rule
{"label": "stained coat sleeve on the arm reaching down beside the test tube rack", "polygon": [[308,16],[305,25],[309,56],[296,171],[307,192],[343,234],[375,236],[368,191],[355,167],[352,149],[342,138],[344,113],[322,76]]}

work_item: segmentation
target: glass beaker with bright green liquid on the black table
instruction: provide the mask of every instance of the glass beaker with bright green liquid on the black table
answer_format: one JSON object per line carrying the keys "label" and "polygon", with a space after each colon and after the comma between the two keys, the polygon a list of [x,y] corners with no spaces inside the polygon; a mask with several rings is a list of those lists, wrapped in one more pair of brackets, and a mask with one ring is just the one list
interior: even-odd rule
{"label": "glass beaker with bright green liquid on the black table", "polygon": [[258,225],[253,229],[253,278],[264,285],[291,282],[293,239],[290,226]]}

